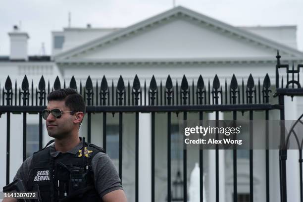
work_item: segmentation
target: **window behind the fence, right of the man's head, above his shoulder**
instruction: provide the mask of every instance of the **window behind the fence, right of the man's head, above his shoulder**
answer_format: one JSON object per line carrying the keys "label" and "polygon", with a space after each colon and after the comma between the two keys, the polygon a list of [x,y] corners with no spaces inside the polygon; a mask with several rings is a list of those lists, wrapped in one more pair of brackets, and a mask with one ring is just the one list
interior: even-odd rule
{"label": "window behind the fence, right of the man's head, above his shoulder", "polygon": [[111,159],[119,158],[119,125],[106,125],[106,153]]}

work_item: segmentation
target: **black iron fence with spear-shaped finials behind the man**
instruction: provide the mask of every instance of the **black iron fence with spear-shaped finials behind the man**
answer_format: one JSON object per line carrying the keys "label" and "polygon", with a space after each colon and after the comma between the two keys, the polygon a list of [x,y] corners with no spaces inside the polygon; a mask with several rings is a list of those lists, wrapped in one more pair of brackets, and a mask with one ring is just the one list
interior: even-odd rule
{"label": "black iron fence with spear-shaped finials behind the man", "polygon": [[[103,148],[106,151],[106,114],[117,113],[119,116],[119,175],[123,182],[122,174],[122,120],[125,112],[135,113],[135,201],[138,202],[138,180],[139,180],[139,113],[151,113],[152,120],[152,202],[155,201],[155,113],[165,112],[167,114],[167,201],[173,200],[172,196],[172,180],[171,180],[171,116],[172,113],[182,114],[183,119],[187,120],[188,112],[198,112],[200,120],[203,120],[205,112],[215,112],[215,119],[219,119],[220,111],[231,111],[234,120],[237,120],[237,112],[249,113],[249,118],[253,120],[255,111],[263,111],[265,119],[269,119],[270,110],[279,110],[280,119],[284,120],[284,96],[303,96],[303,88],[300,85],[300,68],[302,64],[297,65],[297,68],[289,67],[288,64],[280,63],[280,55],[278,52],[276,65],[276,91],[271,91],[271,82],[268,74],[264,78],[254,80],[251,74],[246,83],[244,80],[237,79],[235,75],[229,84],[227,81],[222,84],[217,75],[213,80],[204,81],[202,75],[198,81],[190,82],[186,76],[183,76],[181,85],[178,82],[173,83],[168,75],[165,85],[156,82],[154,76],[147,87],[146,81],[144,84],[140,82],[137,75],[130,85],[120,76],[117,84],[113,81],[107,81],[105,76],[101,80],[101,84],[93,84],[92,79],[88,76],[85,85],[76,83],[74,77],[71,78],[67,86],[65,81],[63,85],[57,77],[52,87],[50,82],[46,83],[42,76],[37,88],[31,85],[25,76],[21,87],[17,83],[13,85],[8,76],[0,96],[0,114],[7,116],[6,126],[6,183],[9,183],[9,157],[10,157],[10,127],[11,113],[23,114],[23,160],[26,158],[26,127],[27,114],[39,114],[39,148],[42,148],[42,116],[41,111],[46,108],[47,95],[56,89],[72,88],[83,95],[87,104],[88,127],[87,136],[88,142],[91,141],[91,115],[92,113],[102,113],[103,115]],[[279,76],[279,69],[286,69],[285,78]],[[163,81],[164,82],[164,81]],[[270,103],[272,98],[278,99],[278,104]],[[300,117],[301,118],[301,117]],[[300,119],[299,118],[299,119]],[[283,144],[283,143],[282,143]],[[200,162],[200,201],[203,201],[203,150],[199,151]],[[286,159],[287,150],[281,150],[280,153],[280,193],[281,202],[287,202],[286,195]],[[269,202],[269,151],[265,151],[265,172],[266,172],[266,202]],[[300,150],[300,182],[301,182],[301,201],[303,200],[303,183],[302,183],[302,150]],[[184,202],[188,201],[188,185],[187,185],[187,150],[183,150],[183,196],[181,199]],[[219,151],[215,151],[215,174],[216,174],[216,202],[219,202]],[[249,153],[249,169],[250,169],[250,202],[253,202],[253,150]],[[237,202],[238,183],[237,183],[237,151],[233,151],[233,201]],[[178,174],[181,177],[181,174]],[[180,185],[180,182],[179,182]],[[179,198],[180,199],[180,198]]]}

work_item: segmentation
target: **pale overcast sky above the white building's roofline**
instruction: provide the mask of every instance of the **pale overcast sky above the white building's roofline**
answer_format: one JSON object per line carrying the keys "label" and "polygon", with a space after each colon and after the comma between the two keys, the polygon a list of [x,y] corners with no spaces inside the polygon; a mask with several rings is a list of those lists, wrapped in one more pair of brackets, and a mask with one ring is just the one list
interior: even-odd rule
{"label": "pale overcast sky above the white building's roofline", "polygon": [[[303,51],[303,0],[175,0],[233,26],[297,25]],[[0,55],[9,54],[7,33],[21,22],[28,32],[29,54],[39,54],[45,43],[51,51],[51,31],[72,27],[127,27],[173,7],[173,0],[3,0],[0,6]]]}

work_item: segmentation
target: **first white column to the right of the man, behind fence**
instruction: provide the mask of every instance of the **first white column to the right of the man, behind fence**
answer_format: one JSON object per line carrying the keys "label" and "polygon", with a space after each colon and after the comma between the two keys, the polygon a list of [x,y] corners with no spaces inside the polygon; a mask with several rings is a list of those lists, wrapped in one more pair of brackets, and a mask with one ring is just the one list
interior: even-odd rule
{"label": "first white column to the right of the man, behind fence", "polygon": [[[144,92],[142,92],[144,95]],[[142,97],[144,103],[144,96]],[[152,119],[139,113],[139,202],[152,200]]]}

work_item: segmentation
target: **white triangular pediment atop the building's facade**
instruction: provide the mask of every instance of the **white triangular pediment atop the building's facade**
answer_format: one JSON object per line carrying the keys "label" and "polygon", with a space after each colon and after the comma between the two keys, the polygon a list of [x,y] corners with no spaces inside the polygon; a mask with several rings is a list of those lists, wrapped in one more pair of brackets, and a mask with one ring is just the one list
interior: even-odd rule
{"label": "white triangular pediment atop the building's facade", "polygon": [[104,61],[192,58],[268,58],[303,53],[184,7],[55,55],[55,60]]}

